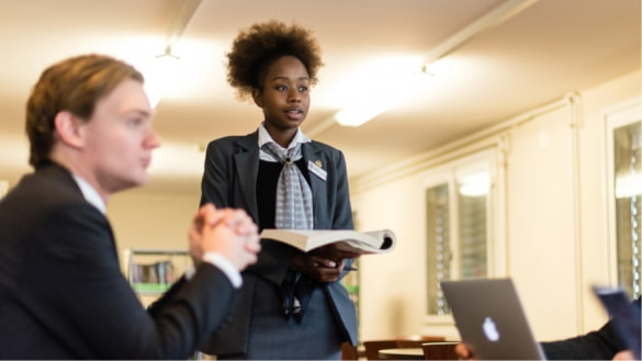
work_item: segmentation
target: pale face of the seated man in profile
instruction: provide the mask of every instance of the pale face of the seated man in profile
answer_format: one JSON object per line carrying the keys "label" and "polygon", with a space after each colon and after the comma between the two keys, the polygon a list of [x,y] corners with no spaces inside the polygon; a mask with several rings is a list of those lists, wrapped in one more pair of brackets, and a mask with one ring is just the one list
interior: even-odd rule
{"label": "pale face of the seated man in profile", "polygon": [[147,181],[151,150],[160,145],[151,115],[143,84],[125,80],[99,100],[92,117],[81,126],[83,166],[100,193],[111,194]]}

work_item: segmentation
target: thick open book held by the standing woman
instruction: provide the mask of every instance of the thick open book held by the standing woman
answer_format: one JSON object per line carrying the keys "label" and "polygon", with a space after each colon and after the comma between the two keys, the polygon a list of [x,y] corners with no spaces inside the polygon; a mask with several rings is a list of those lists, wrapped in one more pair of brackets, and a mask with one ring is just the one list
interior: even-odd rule
{"label": "thick open book held by the standing woman", "polygon": [[304,252],[338,242],[341,250],[359,255],[385,253],[396,245],[390,229],[357,232],[351,229],[263,229],[261,238],[273,239],[296,247]]}

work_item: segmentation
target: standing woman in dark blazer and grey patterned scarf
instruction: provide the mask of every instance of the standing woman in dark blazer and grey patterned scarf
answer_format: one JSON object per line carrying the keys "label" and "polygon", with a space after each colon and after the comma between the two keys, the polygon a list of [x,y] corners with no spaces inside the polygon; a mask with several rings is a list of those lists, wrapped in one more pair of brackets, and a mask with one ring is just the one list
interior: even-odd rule
{"label": "standing woman in dark blazer and grey patterned scarf", "polygon": [[[227,81],[262,110],[258,129],[207,146],[201,203],[245,208],[264,228],[352,229],[341,151],[300,129],[323,66],[311,31],[278,21],[243,30],[227,54]],[[243,272],[237,307],[203,346],[217,359],[340,359],[357,345],[357,315],[340,283],[354,257],[262,240]]]}

